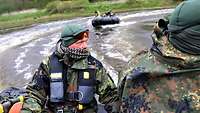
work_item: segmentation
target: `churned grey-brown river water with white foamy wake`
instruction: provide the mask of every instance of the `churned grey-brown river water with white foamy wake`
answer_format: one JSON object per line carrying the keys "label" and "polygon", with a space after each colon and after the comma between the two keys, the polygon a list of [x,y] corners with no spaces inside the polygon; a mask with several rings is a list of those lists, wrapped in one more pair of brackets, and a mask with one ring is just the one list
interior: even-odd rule
{"label": "churned grey-brown river water with white foamy wake", "polygon": [[118,83],[118,72],[131,57],[152,44],[153,24],[172,9],[117,14],[120,24],[94,29],[93,17],[56,21],[31,28],[0,34],[0,90],[5,87],[24,87],[45,56],[54,51],[63,27],[77,23],[90,29],[91,54],[102,61]]}

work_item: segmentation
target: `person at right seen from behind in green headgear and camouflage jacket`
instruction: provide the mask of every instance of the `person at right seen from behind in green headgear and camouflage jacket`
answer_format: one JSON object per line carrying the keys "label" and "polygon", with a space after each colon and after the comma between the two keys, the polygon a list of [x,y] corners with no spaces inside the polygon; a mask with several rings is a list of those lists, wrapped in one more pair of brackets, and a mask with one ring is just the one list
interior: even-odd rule
{"label": "person at right seen from behind in green headgear and camouflage jacket", "polygon": [[122,74],[121,112],[200,113],[199,7],[199,0],[185,1],[165,30],[163,20],[155,26],[150,50],[134,56]]}

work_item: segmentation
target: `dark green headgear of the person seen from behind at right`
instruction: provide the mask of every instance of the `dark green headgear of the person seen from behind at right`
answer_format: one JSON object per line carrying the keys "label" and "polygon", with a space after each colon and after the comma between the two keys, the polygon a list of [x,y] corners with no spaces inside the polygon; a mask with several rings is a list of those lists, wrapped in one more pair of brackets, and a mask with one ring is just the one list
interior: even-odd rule
{"label": "dark green headgear of the person seen from behind at right", "polygon": [[187,0],[171,14],[169,41],[178,50],[200,55],[200,7],[199,0]]}

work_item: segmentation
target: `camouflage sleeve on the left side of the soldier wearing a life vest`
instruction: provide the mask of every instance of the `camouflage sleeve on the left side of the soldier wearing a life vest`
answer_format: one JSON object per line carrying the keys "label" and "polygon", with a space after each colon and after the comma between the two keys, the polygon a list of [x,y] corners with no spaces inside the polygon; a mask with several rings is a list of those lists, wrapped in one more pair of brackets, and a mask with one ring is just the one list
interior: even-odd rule
{"label": "camouflage sleeve on the left side of the soldier wearing a life vest", "polygon": [[49,59],[45,59],[35,71],[32,81],[27,85],[28,97],[23,104],[22,113],[40,113],[44,109],[49,94]]}

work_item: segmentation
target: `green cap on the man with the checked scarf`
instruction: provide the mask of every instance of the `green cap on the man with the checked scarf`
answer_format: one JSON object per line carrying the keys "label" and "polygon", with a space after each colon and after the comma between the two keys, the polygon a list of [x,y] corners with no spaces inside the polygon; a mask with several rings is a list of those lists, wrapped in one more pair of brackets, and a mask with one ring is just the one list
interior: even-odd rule
{"label": "green cap on the man with the checked scarf", "polygon": [[80,33],[88,31],[88,29],[82,27],[81,25],[78,24],[67,24],[64,27],[63,32],[61,33],[61,42],[62,45],[67,47],[76,41],[76,36],[78,36]]}

